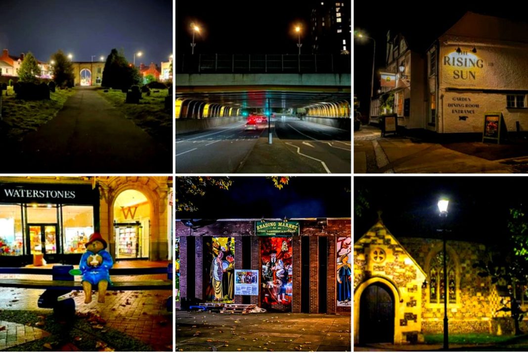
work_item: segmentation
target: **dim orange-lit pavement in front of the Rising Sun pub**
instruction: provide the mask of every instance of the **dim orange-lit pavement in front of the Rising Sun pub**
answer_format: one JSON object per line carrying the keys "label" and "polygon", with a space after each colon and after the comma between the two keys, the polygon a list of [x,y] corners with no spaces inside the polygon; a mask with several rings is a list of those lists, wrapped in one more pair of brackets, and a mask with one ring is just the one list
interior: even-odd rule
{"label": "dim orange-lit pavement in front of the Rising Sun pub", "polygon": [[381,137],[378,127],[354,132],[354,173],[523,173],[528,141],[505,144],[431,142],[425,138]]}

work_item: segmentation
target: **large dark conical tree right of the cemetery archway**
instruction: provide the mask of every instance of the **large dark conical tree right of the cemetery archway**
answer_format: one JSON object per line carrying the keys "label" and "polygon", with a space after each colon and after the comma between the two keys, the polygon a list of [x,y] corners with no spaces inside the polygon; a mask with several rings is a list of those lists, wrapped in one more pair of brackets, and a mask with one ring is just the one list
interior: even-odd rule
{"label": "large dark conical tree right of the cemetery archway", "polygon": [[141,77],[137,68],[128,63],[123,53],[119,53],[115,48],[112,49],[106,58],[101,86],[128,89],[132,85],[137,85],[140,80]]}

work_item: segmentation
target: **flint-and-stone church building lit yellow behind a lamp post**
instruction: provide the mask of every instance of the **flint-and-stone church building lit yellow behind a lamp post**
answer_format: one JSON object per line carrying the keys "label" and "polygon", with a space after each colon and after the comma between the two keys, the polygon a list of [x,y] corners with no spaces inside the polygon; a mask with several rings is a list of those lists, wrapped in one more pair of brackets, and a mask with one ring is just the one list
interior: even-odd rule
{"label": "flint-and-stone church building lit yellow behind a lamp post", "polygon": [[[354,342],[416,343],[443,332],[446,295],[449,333],[512,333],[510,313],[498,311],[510,300],[507,287],[473,267],[489,250],[448,240],[446,286],[442,240],[395,237],[380,219],[354,242]],[[525,310],[528,298],[520,287],[514,293]]]}

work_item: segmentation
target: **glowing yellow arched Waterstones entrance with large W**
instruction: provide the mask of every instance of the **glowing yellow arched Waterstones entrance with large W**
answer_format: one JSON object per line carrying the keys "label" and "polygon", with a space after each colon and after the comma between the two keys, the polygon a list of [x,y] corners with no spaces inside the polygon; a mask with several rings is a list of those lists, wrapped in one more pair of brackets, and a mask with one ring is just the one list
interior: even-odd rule
{"label": "glowing yellow arched Waterstones entrance with large W", "polygon": [[148,259],[152,205],[141,191],[127,189],[115,198],[114,235],[116,259]]}

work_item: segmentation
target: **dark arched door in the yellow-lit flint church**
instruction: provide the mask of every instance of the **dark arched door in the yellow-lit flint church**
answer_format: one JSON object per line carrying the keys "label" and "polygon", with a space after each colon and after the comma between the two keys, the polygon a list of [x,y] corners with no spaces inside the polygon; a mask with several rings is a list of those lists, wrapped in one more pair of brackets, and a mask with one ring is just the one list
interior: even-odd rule
{"label": "dark arched door in the yellow-lit flint church", "polygon": [[394,299],[382,283],[366,287],[360,299],[360,343],[394,342]]}

